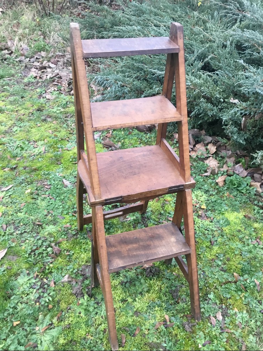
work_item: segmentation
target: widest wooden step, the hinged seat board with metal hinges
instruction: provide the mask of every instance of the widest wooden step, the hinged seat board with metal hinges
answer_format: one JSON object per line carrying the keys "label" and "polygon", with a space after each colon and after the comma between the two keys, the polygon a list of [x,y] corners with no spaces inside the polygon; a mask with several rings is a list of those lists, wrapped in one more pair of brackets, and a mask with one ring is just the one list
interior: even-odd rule
{"label": "widest wooden step, the hinged seat board with metal hinges", "polygon": [[[94,205],[84,152],[83,156],[77,169],[89,204]],[[193,188],[195,181],[185,183],[173,162],[173,154],[169,156],[160,145],[97,153],[102,204],[133,203]]]}

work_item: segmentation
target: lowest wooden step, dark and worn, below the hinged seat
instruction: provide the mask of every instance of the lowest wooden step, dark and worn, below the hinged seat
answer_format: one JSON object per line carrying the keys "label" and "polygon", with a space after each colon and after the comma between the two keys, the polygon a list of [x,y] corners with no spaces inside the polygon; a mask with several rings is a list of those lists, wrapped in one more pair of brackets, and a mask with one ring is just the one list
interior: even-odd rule
{"label": "lowest wooden step, dark and worn, below the hinged seat", "polygon": [[191,252],[174,223],[106,236],[109,273]]}

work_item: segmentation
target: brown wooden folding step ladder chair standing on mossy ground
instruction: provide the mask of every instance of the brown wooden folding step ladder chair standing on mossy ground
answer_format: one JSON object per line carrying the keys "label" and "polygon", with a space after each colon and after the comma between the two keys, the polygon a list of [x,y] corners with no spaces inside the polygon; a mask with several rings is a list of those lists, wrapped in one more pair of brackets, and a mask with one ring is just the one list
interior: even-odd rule
{"label": "brown wooden folding step ladder chair standing on mossy ground", "polygon": [[[183,27],[172,23],[170,35],[160,38],[81,40],[79,26],[70,24],[72,75],[77,135],[77,223],[92,223],[92,284],[101,285],[112,350],[118,339],[109,273],[175,258],[189,283],[191,313],[200,321],[200,301],[195,250],[194,220],[188,146],[186,78]],[[85,59],[167,54],[161,96],[93,102]],[[171,104],[175,79],[176,108]],[[179,157],[166,141],[167,123],[177,121]],[[96,154],[95,131],[158,123],[156,145]],[[86,150],[85,152],[85,143]],[[83,215],[87,193],[92,214]],[[148,201],[177,193],[171,223],[105,236],[104,220],[131,212],[144,213]],[[140,202],[138,202],[140,201]],[[103,205],[124,203],[103,211]],[[184,223],[184,236],[181,223]],[[187,264],[182,259],[185,255]]]}

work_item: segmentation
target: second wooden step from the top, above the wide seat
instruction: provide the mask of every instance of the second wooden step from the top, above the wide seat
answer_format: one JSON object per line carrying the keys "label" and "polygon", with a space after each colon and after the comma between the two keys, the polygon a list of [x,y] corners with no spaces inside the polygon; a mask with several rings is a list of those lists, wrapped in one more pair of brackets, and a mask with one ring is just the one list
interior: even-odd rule
{"label": "second wooden step from the top, above the wide seat", "polygon": [[165,96],[92,102],[93,131],[181,121],[183,118]]}

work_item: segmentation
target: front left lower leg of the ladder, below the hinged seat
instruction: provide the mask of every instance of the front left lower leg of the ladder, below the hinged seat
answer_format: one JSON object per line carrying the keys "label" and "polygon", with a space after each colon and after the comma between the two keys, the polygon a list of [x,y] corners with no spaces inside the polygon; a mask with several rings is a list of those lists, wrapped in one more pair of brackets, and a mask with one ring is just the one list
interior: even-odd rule
{"label": "front left lower leg of the ladder, below the hinged seat", "polygon": [[112,287],[110,284],[110,276],[108,272],[108,257],[107,257],[107,248],[106,248],[106,240],[105,240],[102,206],[94,207],[93,216],[94,216],[94,222],[96,227],[96,239],[97,239],[97,248],[98,248],[98,254],[99,254],[99,261],[100,261],[102,292],[104,296],[105,309],[106,309],[106,315],[107,315],[109,341],[110,341],[110,346],[112,350],[119,350],[117,331],[116,331],[116,322],[115,322],[115,313],[114,313],[114,306],[113,306]]}

